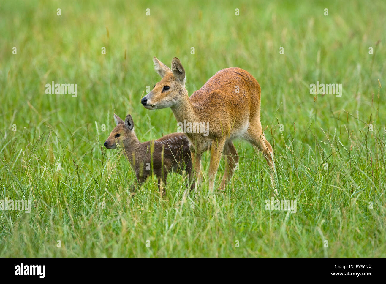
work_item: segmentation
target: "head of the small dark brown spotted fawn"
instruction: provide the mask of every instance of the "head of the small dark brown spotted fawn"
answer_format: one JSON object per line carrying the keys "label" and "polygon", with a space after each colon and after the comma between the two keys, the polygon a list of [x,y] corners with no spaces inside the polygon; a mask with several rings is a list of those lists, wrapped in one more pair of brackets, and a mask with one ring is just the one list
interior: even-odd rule
{"label": "head of the small dark brown spotted fawn", "polygon": [[108,149],[117,148],[117,144],[119,143],[121,146],[125,148],[130,147],[133,142],[138,141],[137,136],[134,133],[134,122],[130,114],[126,116],[125,121],[120,119],[119,116],[114,114],[114,121],[117,124],[113,131],[111,131],[110,136],[106,139],[105,145]]}

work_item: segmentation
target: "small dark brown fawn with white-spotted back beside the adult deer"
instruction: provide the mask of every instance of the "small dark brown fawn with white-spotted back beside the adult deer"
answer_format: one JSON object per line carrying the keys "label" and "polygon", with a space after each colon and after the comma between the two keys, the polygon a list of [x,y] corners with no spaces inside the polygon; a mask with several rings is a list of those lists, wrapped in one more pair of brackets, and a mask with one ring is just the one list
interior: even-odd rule
{"label": "small dark brown fawn with white-spotted back beside the adult deer", "polygon": [[[127,115],[125,121],[114,114],[117,126],[111,131],[104,145],[108,149],[117,148],[119,143],[124,153],[134,168],[138,186],[132,187],[132,192],[145,182],[147,177],[154,173],[158,179],[158,189],[162,196],[166,194],[163,185],[170,171],[188,174],[188,185],[192,182],[192,162],[189,150],[189,142],[183,133],[172,133],[154,141],[141,143],[134,133],[134,122],[131,115]],[[191,184],[191,190],[195,183]]]}

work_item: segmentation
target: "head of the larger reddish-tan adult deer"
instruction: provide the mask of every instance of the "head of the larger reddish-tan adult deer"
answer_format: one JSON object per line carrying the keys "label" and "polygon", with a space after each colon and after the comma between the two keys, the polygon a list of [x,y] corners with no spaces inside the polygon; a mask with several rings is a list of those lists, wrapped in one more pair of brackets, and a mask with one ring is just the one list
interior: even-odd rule
{"label": "head of the larger reddish-tan adult deer", "polygon": [[153,57],[154,69],[162,77],[153,90],[141,100],[146,109],[164,109],[178,105],[188,92],[185,89],[185,70],[178,58],[173,58],[171,69]]}

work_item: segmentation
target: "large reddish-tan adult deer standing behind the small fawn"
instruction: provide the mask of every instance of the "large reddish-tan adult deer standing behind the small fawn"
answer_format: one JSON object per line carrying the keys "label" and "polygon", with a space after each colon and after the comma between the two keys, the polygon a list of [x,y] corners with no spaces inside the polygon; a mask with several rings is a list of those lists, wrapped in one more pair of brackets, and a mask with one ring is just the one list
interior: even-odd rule
{"label": "large reddish-tan adult deer standing behind the small fawn", "polygon": [[244,138],[262,151],[271,167],[274,193],[274,160],[271,144],[264,136],[260,122],[260,85],[247,71],[225,68],[210,78],[190,97],[185,88],[185,69],[178,58],[173,58],[171,69],[156,57],[154,68],[162,77],[153,90],[141,100],[146,109],[170,107],[178,122],[209,123],[209,134],[186,131],[192,152],[196,184],[201,179],[201,155],[210,148],[209,189],[213,192],[221,155],[225,155],[225,173],[219,190],[225,190],[239,162],[232,143]]}

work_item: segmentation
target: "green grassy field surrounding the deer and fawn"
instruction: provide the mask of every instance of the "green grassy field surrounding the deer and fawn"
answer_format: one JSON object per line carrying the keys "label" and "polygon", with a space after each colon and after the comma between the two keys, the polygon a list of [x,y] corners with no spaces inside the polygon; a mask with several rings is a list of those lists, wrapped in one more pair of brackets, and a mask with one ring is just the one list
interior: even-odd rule
{"label": "green grassy field surrounding the deer and fawn", "polygon": [[[3,1],[0,199],[32,208],[0,211],[0,256],[386,257],[385,11],[384,1]],[[200,196],[183,203],[173,173],[164,199],[155,178],[130,197],[133,170],[103,147],[113,113],[132,114],[141,141],[177,131],[170,109],[140,104],[159,81],[152,56],[181,60],[189,94],[226,67],[257,79],[278,199],[296,200],[296,213],[266,210],[269,168],[240,140],[225,194],[208,196],[207,153]],[[46,94],[52,81],[76,83],[77,96]],[[342,84],[341,97],[310,94],[316,82]],[[223,171],[222,160],[217,184]]]}

